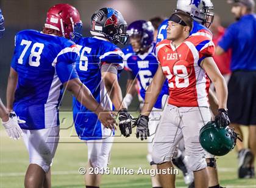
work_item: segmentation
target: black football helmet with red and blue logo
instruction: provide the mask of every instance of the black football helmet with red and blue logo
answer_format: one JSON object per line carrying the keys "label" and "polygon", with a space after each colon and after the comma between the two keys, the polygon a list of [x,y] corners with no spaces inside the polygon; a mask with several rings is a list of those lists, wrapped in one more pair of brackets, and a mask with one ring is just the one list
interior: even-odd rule
{"label": "black football helmet with red and blue logo", "polygon": [[126,44],[126,29],[122,14],[113,8],[101,8],[91,16],[91,35],[103,36],[113,44]]}

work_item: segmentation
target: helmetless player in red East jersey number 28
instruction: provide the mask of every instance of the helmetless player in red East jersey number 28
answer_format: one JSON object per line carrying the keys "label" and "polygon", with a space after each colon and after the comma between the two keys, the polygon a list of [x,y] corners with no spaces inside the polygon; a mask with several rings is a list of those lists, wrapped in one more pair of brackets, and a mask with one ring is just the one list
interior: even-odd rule
{"label": "helmetless player in red East jersey number 28", "polygon": [[[199,130],[210,121],[206,74],[216,87],[219,101],[219,126],[227,126],[227,86],[212,58],[215,47],[205,36],[190,36],[193,19],[184,12],[171,15],[168,39],[157,44],[156,56],[160,65],[149,86],[143,110],[137,122],[137,138],[146,138],[148,115],[168,79],[169,99],[155,135],[152,158],[157,168],[172,167],[171,158],[180,139],[185,142],[185,158],[194,172],[195,187],[208,187],[204,149],[198,141]],[[170,34],[171,33],[171,34]],[[154,92],[152,92],[154,89]],[[175,175],[160,174],[163,187],[175,187]]]}

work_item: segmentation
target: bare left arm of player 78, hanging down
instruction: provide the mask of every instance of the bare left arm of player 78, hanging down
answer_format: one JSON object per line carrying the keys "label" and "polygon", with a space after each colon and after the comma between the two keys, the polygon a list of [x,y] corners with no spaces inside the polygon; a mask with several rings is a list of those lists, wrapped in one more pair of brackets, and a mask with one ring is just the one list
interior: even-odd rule
{"label": "bare left arm of player 78, hanging down", "polygon": [[15,72],[14,69],[10,69],[10,74],[8,78],[8,84],[7,84],[7,110],[10,112],[13,109],[13,102],[15,99],[15,90],[18,82],[18,74]]}

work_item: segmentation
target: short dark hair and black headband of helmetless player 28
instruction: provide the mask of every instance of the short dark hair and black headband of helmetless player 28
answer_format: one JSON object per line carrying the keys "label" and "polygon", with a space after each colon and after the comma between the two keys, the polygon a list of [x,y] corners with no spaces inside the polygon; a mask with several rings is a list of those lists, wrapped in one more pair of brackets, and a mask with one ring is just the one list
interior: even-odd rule
{"label": "short dark hair and black headband of helmetless player 28", "polygon": [[190,27],[190,32],[193,29],[193,18],[185,12],[174,12],[169,18],[169,21],[177,24]]}

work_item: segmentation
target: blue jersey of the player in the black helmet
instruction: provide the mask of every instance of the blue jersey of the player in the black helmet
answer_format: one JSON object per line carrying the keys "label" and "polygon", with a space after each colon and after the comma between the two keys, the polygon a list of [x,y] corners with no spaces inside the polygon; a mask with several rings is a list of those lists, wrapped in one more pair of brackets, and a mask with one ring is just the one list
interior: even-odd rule
{"label": "blue jersey of the player in the black helmet", "polygon": [[[112,101],[107,95],[101,78],[101,65],[113,63],[118,70],[123,69],[123,52],[104,38],[80,38],[77,42],[80,61],[76,62],[76,70],[80,81],[90,89],[94,98],[106,110],[112,110]],[[113,135],[113,131],[105,128],[95,113],[82,106],[76,98],[73,99],[73,118],[77,135],[80,139],[102,139]]]}

